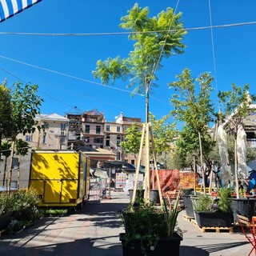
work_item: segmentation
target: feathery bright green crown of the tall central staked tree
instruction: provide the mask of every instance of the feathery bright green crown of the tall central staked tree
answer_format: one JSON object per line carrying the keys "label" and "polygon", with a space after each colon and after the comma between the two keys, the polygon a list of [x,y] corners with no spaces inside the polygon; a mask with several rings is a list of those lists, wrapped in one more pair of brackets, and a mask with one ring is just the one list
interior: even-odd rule
{"label": "feathery bright green crown of the tall central staked tree", "polygon": [[129,38],[134,40],[134,50],[128,58],[107,58],[99,60],[92,71],[94,78],[101,78],[103,84],[112,84],[116,79],[130,78],[127,87],[135,86],[134,94],[148,94],[149,87],[156,87],[155,70],[159,70],[162,58],[173,54],[182,54],[185,45],[182,39],[186,34],[181,13],[174,14],[171,8],[162,11],[157,17],[150,18],[149,8],[141,8],[136,3],[128,10],[128,15],[121,18],[120,27],[130,31]]}

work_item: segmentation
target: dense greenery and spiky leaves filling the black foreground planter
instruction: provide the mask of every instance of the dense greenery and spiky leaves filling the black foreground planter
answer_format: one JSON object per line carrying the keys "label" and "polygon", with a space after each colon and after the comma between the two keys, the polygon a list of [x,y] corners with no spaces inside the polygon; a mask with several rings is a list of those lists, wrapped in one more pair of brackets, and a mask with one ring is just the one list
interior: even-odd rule
{"label": "dense greenery and spiky leaves filling the black foreground planter", "polygon": [[[140,245],[142,254],[146,254],[146,249],[150,246],[157,246],[159,238],[172,237],[174,230],[178,229],[178,198],[172,207],[170,202],[162,209],[156,208],[152,203],[139,200],[130,204],[122,210],[121,218],[126,234],[124,242],[126,246]],[[181,232],[179,232],[181,234]]]}

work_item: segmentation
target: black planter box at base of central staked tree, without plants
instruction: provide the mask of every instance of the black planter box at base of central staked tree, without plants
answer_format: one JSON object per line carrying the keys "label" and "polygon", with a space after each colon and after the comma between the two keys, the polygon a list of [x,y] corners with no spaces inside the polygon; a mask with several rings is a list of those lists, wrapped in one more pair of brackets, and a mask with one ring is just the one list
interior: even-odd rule
{"label": "black planter box at base of central staked tree, without plants", "polygon": [[[179,247],[182,237],[177,233],[171,238],[160,238],[158,244],[154,246],[147,246],[146,251],[143,252],[142,246],[139,242],[125,241],[125,233],[119,234],[119,239],[122,242],[122,255],[123,256],[166,256],[168,251],[171,251],[172,256],[179,256]],[[145,240],[145,245],[147,241]]]}

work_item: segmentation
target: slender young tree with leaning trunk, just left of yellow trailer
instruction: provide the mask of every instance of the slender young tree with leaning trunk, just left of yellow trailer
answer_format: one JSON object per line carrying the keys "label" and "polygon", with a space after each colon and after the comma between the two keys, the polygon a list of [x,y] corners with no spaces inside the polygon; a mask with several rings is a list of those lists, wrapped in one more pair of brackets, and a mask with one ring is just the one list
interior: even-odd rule
{"label": "slender young tree with leaning trunk, just left of yellow trailer", "polygon": [[[36,114],[40,114],[40,106],[43,99],[37,95],[38,86],[30,84],[22,85],[21,82],[14,84],[15,90],[12,94],[12,119],[14,120],[14,129],[12,130],[11,140],[11,158],[8,177],[8,190],[12,178],[12,165],[14,158],[14,146],[18,134],[34,133],[37,122],[34,121]],[[37,126],[38,130],[44,129],[45,126]]]}

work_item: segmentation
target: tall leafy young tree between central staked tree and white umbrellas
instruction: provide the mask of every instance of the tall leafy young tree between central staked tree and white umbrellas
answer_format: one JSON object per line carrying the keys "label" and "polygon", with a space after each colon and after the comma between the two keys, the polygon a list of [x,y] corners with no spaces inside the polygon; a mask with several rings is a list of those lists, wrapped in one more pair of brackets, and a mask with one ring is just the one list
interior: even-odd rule
{"label": "tall leafy young tree between central staked tree and white umbrellas", "polygon": [[[203,170],[203,152],[210,150],[213,144],[209,129],[210,122],[214,121],[214,105],[210,99],[213,80],[214,78],[207,72],[200,74],[198,78],[192,78],[190,70],[186,68],[182,74],[178,75],[177,82],[169,84],[170,88],[178,92],[170,99],[170,104],[174,106],[171,114],[178,121],[184,122],[183,131],[180,134],[181,148],[194,155],[194,171],[195,153],[197,150],[200,152],[204,192],[206,192],[206,175]],[[199,85],[198,93],[196,82]]]}

